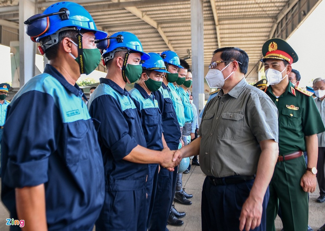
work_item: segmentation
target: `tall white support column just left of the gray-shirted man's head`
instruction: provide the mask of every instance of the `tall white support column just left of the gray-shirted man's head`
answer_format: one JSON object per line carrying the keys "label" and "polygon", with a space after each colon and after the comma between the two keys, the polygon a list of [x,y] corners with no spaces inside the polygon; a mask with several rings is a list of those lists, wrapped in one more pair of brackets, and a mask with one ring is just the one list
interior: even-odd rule
{"label": "tall white support column just left of the gray-shirted man's head", "polygon": [[[202,0],[190,0],[191,3],[191,38],[192,38],[192,69],[193,69],[193,102],[197,106],[199,97],[204,94],[204,52],[203,52],[203,3]],[[202,108],[200,108],[202,109]]]}

